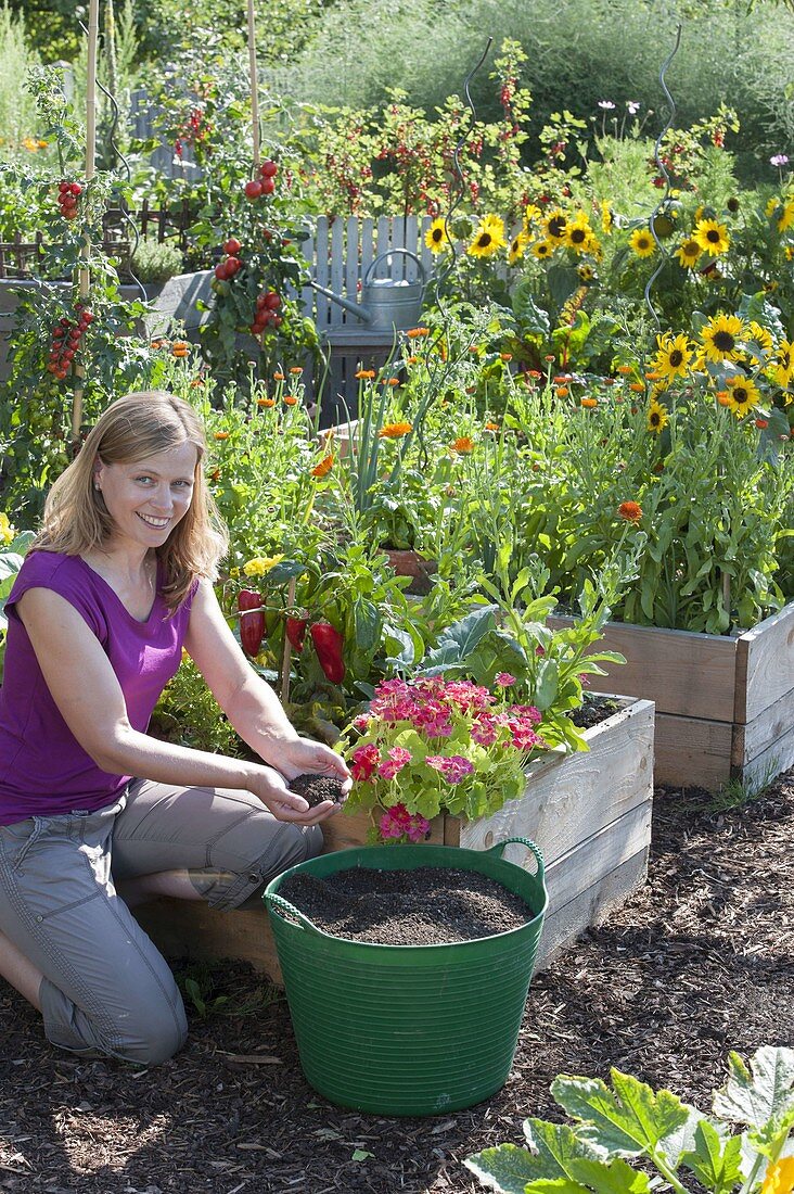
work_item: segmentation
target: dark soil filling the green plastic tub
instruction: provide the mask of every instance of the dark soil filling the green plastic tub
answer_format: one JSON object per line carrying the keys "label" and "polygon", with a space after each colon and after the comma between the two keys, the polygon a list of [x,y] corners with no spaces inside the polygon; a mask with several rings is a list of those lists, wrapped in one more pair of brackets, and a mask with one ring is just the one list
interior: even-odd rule
{"label": "dark soil filling the green plastic tub", "polygon": [[535,915],[494,879],[454,867],[356,867],[326,879],[298,874],[285,880],[278,894],[324,933],[381,946],[441,946],[491,937],[519,929]]}

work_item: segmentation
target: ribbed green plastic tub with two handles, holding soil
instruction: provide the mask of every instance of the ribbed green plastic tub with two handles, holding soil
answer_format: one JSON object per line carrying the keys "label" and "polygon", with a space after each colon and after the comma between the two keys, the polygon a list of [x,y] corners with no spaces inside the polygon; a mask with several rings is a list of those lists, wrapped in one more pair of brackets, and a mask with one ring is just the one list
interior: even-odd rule
{"label": "ribbed green plastic tub with two handles, holding soil", "polygon": [[[510,842],[534,872],[507,862]],[[521,896],[527,924],[448,946],[378,946],[318,929],[278,888],[289,875],[369,867],[475,870]],[[543,857],[528,838],[491,850],[375,845],[301,862],[269,884],[270,912],[303,1072],[331,1102],[381,1115],[439,1115],[504,1085],[516,1052],[547,905]]]}

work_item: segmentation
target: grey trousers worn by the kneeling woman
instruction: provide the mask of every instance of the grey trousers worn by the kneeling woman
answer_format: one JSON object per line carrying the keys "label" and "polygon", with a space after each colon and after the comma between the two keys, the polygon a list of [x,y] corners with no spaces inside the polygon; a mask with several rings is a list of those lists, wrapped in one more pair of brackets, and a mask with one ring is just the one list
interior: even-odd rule
{"label": "grey trousers worn by the kneeling woman", "polygon": [[321,848],[319,826],[277,821],[246,792],[143,780],[96,813],[0,825],[0,931],[44,974],[48,1040],[144,1065],[184,1045],[171,970],[115,880],[185,868],[226,910]]}

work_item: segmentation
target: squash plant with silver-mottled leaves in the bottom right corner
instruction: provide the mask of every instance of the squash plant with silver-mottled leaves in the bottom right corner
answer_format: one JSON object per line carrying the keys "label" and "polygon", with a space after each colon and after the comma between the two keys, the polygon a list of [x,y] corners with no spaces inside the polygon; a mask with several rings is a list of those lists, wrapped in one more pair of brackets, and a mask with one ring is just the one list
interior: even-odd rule
{"label": "squash plant with silver-mottled leaves in the bottom right corner", "polygon": [[[710,1116],[615,1069],[609,1084],[560,1075],[552,1095],[571,1124],[528,1119],[529,1149],[503,1144],[466,1159],[488,1189],[646,1194],[661,1183],[676,1194],[694,1188],[755,1194],[764,1173],[778,1164],[794,1126],[794,1052],[764,1046],[750,1067],[731,1053],[728,1081],[714,1095]],[[744,1131],[732,1134],[733,1124]],[[650,1180],[624,1158],[644,1162],[658,1176]]]}

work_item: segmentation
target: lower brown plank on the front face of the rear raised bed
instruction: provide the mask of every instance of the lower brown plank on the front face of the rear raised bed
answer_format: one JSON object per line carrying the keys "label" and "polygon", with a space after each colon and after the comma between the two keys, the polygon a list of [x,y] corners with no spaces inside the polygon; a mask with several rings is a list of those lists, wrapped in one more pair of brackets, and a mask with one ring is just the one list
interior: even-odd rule
{"label": "lower brown plank on the front face of the rear raised bed", "polygon": [[657,713],[657,783],[715,789],[731,778],[733,726],[700,718]]}

